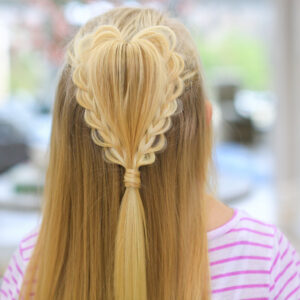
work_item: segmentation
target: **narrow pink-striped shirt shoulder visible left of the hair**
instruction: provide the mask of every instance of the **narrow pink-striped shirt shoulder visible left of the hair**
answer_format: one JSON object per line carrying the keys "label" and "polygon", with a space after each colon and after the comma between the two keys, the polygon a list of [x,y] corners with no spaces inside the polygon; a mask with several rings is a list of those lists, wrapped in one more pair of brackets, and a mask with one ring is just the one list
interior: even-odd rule
{"label": "narrow pink-striped shirt shoulder visible left of the hair", "polygon": [[0,300],[17,299],[21,290],[26,267],[36,244],[39,227],[34,228],[20,242],[10,259],[2,278]]}

